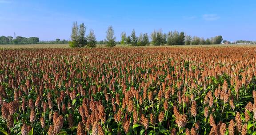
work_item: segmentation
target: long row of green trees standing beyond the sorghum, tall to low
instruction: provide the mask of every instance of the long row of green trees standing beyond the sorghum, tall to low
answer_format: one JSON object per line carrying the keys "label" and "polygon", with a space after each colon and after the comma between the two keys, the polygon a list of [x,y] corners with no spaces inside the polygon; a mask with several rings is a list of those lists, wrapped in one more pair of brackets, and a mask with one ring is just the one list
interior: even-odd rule
{"label": "long row of green trees standing beyond the sorghum, tall to low", "polygon": [[[101,41],[96,41],[96,36],[93,30],[90,30],[89,34],[86,36],[86,27],[84,23],[78,26],[77,22],[73,24],[71,41],[69,45],[72,48],[81,48],[88,46],[90,48],[96,47],[96,44],[106,44],[108,47],[114,47],[116,44],[132,45],[132,46],[148,46],[150,44],[159,45],[197,45],[197,44],[220,44],[222,42],[222,36],[215,36],[204,40],[204,38],[199,38],[197,36],[185,35],[184,32],[170,31],[167,34],[162,32],[162,30],[154,30],[150,37],[148,33],[140,33],[136,36],[135,29],[132,30],[131,35],[126,35],[126,32],[121,33],[120,42],[116,41],[116,36],[114,36],[114,30],[112,26],[109,26],[106,32],[106,39]],[[151,41],[149,40],[151,39]]]}

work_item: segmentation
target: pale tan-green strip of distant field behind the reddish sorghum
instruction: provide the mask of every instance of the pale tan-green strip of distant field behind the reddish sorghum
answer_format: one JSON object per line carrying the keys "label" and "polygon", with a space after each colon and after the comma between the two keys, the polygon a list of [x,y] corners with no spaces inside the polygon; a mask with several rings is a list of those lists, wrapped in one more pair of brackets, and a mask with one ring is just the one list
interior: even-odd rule
{"label": "pale tan-green strip of distant field behind the reddish sorghum", "polygon": [[[105,47],[105,45],[98,44],[98,48]],[[118,44],[116,47],[132,47],[130,45],[121,45]],[[155,46],[150,46],[155,47]],[[157,47],[157,46],[156,46]],[[256,44],[212,44],[212,45],[173,45],[173,46],[164,46],[164,47],[256,47]],[[68,44],[6,44],[6,45],[0,45],[0,48],[4,49],[16,49],[16,48],[70,48]]]}

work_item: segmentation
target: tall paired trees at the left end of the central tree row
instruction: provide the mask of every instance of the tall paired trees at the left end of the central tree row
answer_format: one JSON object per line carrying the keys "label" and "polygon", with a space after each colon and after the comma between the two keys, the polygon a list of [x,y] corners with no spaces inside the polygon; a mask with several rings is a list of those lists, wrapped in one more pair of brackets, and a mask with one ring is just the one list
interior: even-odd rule
{"label": "tall paired trees at the left end of the central tree row", "polygon": [[84,23],[80,24],[80,28],[78,28],[77,22],[73,24],[71,41],[69,42],[69,46],[72,48],[81,48],[87,44],[87,39],[85,37],[86,27]]}

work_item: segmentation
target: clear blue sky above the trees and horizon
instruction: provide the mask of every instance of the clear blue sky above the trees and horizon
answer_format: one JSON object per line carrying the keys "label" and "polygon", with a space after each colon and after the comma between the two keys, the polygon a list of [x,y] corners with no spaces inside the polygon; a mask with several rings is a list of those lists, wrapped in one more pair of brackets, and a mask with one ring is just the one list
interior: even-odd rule
{"label": "clear blue sky above the trees and horizon", "polygon": [[0,36],[70,39],[74,21],[104,40],[112,25],[117,40],[154,29],[204,38],[256,40],[255,0],[0,0]]}

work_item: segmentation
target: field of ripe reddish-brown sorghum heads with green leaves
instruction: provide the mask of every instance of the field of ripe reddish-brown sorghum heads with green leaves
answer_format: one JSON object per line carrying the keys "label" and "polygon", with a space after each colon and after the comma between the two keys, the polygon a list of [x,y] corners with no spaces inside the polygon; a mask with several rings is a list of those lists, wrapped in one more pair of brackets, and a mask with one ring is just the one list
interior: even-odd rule
{"label": "field of ripe reddish-brown sorghum heads with green leaves", "polygon": [[255,135],[256,48],[0,50],[2,135]]}

